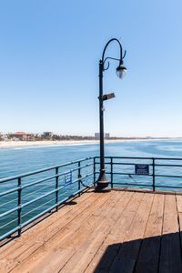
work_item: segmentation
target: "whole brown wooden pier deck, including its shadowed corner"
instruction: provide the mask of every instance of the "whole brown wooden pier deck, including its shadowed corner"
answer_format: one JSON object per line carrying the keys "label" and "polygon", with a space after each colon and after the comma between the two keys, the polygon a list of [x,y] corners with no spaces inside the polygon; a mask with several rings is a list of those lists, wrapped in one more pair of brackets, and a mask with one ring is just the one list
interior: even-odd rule
{"label": "whole brown wooden pier deck, including its shadowed corner", "polygon": [[0,248],[0,272],[182,272],[182,196],[88,190]]}

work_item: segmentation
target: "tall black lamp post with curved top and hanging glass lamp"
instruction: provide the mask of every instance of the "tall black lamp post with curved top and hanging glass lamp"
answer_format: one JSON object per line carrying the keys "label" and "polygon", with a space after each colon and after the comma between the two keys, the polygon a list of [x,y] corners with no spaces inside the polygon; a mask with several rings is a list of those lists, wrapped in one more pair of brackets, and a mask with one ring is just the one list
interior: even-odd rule
{"label": "tall black lamp post with curved top and hanging glass lamp", "polygon": [[[105,58],[105,52],[106,52],[106,47],[112,42],[116,41],[120,47],[120,58],[116,59],[113,57],[106,57]],[[106,99],[112,98],[115,96],[114,93],[103,95],[103,72],[106,71],[109,67],[109,62],[108,66],[105,68],[105,63],[107,59],[112,59],[119,61],[119,66],[116,68],[116,76],[118,76],[120,79],[122,79],[126,75],[126,67],[123,65],[123,59],[126,56],[126,51],[123,56],[122,54],[122,45],[120,41],[116,38],[110,39],[108,43],[106,44],[102,59],[99,62],[99,117],[100,117],[100,174],[98,177],[98,180],[96,181],[96,191],[109,191],[109,181],[106,178],[106,170],[105,170],[105,147],[104,147],[104,106],[103,102]]]}

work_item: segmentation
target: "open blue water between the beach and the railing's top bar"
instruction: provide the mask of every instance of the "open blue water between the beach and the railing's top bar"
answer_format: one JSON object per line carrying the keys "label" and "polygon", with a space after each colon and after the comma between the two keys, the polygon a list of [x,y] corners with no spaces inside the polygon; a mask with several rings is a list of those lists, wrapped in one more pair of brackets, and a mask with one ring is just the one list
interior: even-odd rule
{"label": "open blue water between the beach and the railing's top bar", "polygon": [[[99,145],[1,148],[0,179],[98,155]],[[106,156],[182,158],[182,141],[107,143]]]}

